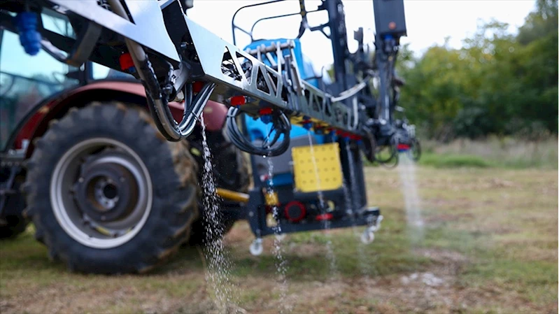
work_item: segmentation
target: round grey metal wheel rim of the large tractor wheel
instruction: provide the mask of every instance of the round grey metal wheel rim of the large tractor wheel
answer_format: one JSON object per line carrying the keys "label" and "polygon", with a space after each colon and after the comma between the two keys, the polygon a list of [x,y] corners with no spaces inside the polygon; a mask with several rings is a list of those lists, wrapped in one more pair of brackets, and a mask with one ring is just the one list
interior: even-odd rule
{"label": "round grey metal wheel rim of the large tractor wheel", "polygon": [[115,248],[142,229],[153,201],[141,158],[111,138],[90,138],[59,159],[50,201],[60,226],[90,248]]}

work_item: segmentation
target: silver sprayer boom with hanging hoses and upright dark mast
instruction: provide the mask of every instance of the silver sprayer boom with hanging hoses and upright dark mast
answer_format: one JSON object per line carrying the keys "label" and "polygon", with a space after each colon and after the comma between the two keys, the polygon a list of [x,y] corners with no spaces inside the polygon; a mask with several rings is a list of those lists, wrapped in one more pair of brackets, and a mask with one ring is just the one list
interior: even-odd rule
{"label": "silver sprayer boom with hanging hoses and upright dark mast", "polygon": [[[353,140],[365,139],[365,154],[374,159],[375,143],[382,138],[372,136],[392,137],[393,104],[388,94],[399,36],[406,34],[402,1],[381,1],[382,6],[377,2],[377,56],[370,64],[363,50],[362,29],[355,34],[360,50],[353,55],[348,52],[340,0],[323,1],[317,10],[309,12],[304,0],[299,1],[299,37],[306,29],[325,34],[323,29],[330,27],[331,34],[325,36],[332,40],[337,94],[302,80],[292,42],[243,51],[190,20],[179,0],[6,0],[0,4],[0,22],[20,34],[30,55],[42,48],[72,66],[90,60],[139,78],[157,128],[169,141],[189,136],[206,102],[212,99],[230,107],[232,119],[228,121],[232,124],[236,115],[244,113],[271,122],[278,134],[285,135],[283,142],[276,136],[257,148],[240,138],[241,132],[233,125],[229,133],[247,152],[281,155],[288,147],[291,124],[298,124],[313,131],[334,131]],[[76,38],[44,29],[39,14],[44,10],[66,15]],[[309,27],[306,15],[320,10],[327,10],[329,22]],[[9,11],[15,13],[15,19]],[[353,76],[345,65],[350,60]],[[367,92],[374,77],[380,78],[380,101]],[[184,101],[181,122],[171,115],[169,101]],[[376,113],[372,114],[372,107],[376,107]],[[372,131],[375,128],[380,131]]]}

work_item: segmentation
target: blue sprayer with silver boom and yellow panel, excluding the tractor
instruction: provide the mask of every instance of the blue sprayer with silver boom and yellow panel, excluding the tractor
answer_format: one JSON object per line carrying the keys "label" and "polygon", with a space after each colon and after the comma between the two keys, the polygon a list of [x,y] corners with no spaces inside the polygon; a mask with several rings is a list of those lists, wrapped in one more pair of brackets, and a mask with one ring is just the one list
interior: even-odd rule
{"label": "blue sprayer with silver boom and yellow panel, excluding the tractor", "polygon": [[[256,236],[252,251],[261,252],[262,236],[274,233],[267,219],[274,207],[281,208],[274,218],[284,233],[325,224],[367,226],[362,241],[370,243],[382,216],[379,208],[368,207],[362,155],[386,166],[397,164],[404,150],[420,152],[415,127],[394,117],[403,113],[398,99],[404,82],[396,76],[395,63],[399,38],[406,36],[404,2],[374,0],[374,43],[364,41],[360,28],[354,33],[358,50],[352,53],[341,0],[323,0],[313,10],[299,0],[298,12],[261,17],[250,31],[235,24],[240,10],[279,1],[284,0],[239,8],[232,20],[234,43],[187,17],[183,3],[190,8],[192,1],[185,0],[3,0],[0,27],[19,34],[29,55],[44,50],[69,66],[94,62],[140,80],[155,126],[168,141],[193,133],[208,100],[227,106],[226,124],[220,120],[217,129],[227,128],[227,141],[251,154],[253,188],[248,194],[218,190],[235,203],[220,210],[232,220],[248,220]],[[310,26],[307,16],[319,11],[328,21]],[[52,31],[45,27],[49,23],[43,25],[45,15],[71,27]],[[258,22],[292,15],[301,17],[297,38],[253,38]],[[246,50],[236,46],[235,31],[250,36]],[[299,41],[305,31],[319,31],[332,43],[334,82],[323,73],[309,78],[312,65],[304,61]],[[184,104],[181,121],[174,120],[170,102]],[[262,123],[262,129],[249,129],[250,122]],[[303,135],[291,140],[295,125],[304,128]],[[384,148],[390,157],[381,154]],[[260,158],[266,159],[267,173],[259,173],[266,168]],[[274,171],[272,158],[278,165]]]}

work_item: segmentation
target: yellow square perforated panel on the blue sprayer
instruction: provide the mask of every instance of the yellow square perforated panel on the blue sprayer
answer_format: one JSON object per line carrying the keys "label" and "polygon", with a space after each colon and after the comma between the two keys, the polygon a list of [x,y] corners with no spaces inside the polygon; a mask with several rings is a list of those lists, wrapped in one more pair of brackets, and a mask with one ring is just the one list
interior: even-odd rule
{"label": "yellow square perforated panel on the blue sprayer", "polygon": [[[300,192],[337,190],[342,185],[338,143],[294,147],[293,174],[295,188]],[[314,161],[316,161],[316,167]],[[315,169],[318,170],[318,180]]]}

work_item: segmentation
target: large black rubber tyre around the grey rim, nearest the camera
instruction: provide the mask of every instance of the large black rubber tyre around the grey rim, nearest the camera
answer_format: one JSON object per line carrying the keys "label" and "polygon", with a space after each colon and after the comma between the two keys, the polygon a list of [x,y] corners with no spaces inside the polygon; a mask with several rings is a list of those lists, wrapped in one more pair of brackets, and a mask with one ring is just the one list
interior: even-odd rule
{"label": "large black rubber tyre around the grey rim, nearest the camera", "polygon": [[[76,145],[92,138],[110,138],[130,148],[145,165],[142,169],[147,169],[151,183],[151,189],[143,193],[150,194],[152,199],[151,206],[143,209],[142,217],[147,218],[138,224],[141,227],[128,230],[135,232],[132,238],[111,248],[77,241],[78,236],[72,236],[62,227],[64,220],[57,216],[60,210],[54,208],[51,197],[51,180],[57,176],[59,160]],[[24,187],[26,214],[35,224],[36,238],[48,247],[50,259],[61,260],[71,271],[107,274],[150,271],[187,241],[192,223],[199,215],[197,166],[187,143],[166,141],[151,117],[134,105],[94,103],[70,110],[59,122],[51,123],[45,135],[36,141],[28,171]],[[52,195],[56,200],[58,194]],[[64,222],[64,226],[67,224]],[[111,241],[111,237],[101,240]]]}

